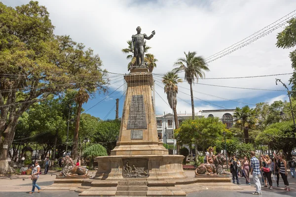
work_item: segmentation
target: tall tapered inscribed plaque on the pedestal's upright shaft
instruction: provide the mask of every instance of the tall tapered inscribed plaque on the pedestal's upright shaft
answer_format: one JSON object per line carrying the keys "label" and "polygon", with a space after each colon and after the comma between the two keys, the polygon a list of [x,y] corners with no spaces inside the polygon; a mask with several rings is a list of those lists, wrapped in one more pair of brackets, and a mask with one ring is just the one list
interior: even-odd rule
{"label": "tall tapered inscribed plaque on the pedestal's upright shaft", "polygon": [[147,129],[143,95],[133,95],[126,129]]}

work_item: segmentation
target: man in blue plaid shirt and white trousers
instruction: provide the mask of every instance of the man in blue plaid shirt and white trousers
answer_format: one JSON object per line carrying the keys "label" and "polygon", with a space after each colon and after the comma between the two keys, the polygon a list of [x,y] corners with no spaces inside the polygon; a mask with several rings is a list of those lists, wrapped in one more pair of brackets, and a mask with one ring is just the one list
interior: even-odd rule
{"label": "man in blue plaid shirt and white trousers", "polygon": [[260,179],[259,174],[260,172],[260,164],[259,160],[255,157],[255,152],[251,151],[251,175],[253,175],[253,180],[256,185],[256,192],[253,193],[253,195],[260,195],[261,194],[261,185],[260,185]]}

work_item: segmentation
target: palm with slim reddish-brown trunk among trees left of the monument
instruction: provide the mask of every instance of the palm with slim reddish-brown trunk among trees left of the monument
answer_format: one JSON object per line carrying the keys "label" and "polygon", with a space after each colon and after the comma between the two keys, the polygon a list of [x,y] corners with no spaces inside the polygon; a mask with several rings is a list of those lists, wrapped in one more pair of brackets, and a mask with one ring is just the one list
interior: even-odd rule
{"label": "palm with slim reddish-brown trunk among trees left of the monument", "polygon": [[89,99],[89,95],[87,91],[84,90],[83,88],[80,88],[77,94],[75,95],[75,102],[78,105],[78,107],[77,107],[77,113],[76,113],[73,146],[72,146],[72,152],[71,152],[71,156],[74,160],[76,160],[78,156],[78,131],[79,131],[81,108],[82,108],[82,104],[87,102],[88,99]]}

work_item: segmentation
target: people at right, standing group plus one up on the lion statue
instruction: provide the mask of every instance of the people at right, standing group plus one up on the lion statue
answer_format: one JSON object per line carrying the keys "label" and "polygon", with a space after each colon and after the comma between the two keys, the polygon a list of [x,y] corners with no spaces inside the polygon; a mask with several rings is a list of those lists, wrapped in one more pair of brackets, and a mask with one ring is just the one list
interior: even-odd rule
{"label": "people at right, standing group plus one up on the lion statue", "polygon": [[[213,152],[214,148],[210,147],[204,158],[204,164],[212,163],[212,158],[215,157]],[[235,155],[232,155],[232,158],[228,163],[230,165],[230,172],[232,174],[232,182],[235,183],[236,180],[237,184],[240,185],[238,178],[240,176],[245,177],[246,184],[251,185],[249,177],[251,173],[251,175],[253,175],[253,180],[256,185],[256,192],[253,194],[259,195],[261,194],[261,184],[259,180],[259,175],[261,175],[263,187],[266,187],[270,190],[273,190],[272,179],[274,179],[274,181],[276,180],[277,187],[279,187],[279,178],[281,176],[285,184],[284,190],[290,192],[287,169],[289,164],[291,175],[293,178],[295,178],[295,158],[292,158],[289,161],[289,163],[287,163],[282,154],[273,154],[273,160],[268,155],[260,155],[259,159],[257,159],[255,155],[255,152],[251,151],[250,161],[248,160],[247,156],[244,156],[244,158],[240,160],[236,158]]]}

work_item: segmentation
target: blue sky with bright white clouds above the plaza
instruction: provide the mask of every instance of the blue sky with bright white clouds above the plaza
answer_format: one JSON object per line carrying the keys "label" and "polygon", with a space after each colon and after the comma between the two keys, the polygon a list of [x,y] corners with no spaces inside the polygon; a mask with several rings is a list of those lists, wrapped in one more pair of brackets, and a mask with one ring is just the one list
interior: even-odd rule
{"label": "blue sky with bright white clouds above the plaza", "polygon": [[[5,5],[18,6],[29,0],[1,0]],[[136,34],[141,26],[142,33],[153,38],[147,41],[152,53],[158,59],[153,73],[166,73],[174,63],[185,57],[184,52],[195,51],[207,58],[224,48],[252,35],[260,29],[294,11],[296,0],[39,0],[50,13],[56,35],[70,35],[86,48],[94,49],[103,61],[104,68],[114,73],[129,73],[128,60],[121,49],[126,41]],[[292,49],[276,47],[277,33],[285,25],[255,42],[208,64],[206,78],[242,77],[291,73],[289,52]],[[97,94],[83,108],[101,119],[114,119],[115,99],[119,101],[121,117],[125,88],[122,75],[110,74],[109,93]],[[184,78],[184,74],[180,73]],[[262,91],[207,86],[202,84],[243,87],[253,89],[286,90],[276,85],[280,78],[289,85],[291,75],[244,79],[200,79],[193,86],[195,112],[206,109],[234,109],[249,103],[255,107],[258,102],[272,103],[287,100],[286,92]],[[155,76],[156,114],[171,112],[167,105],[160,77]],[[201,84],[202,83],[202,84]],[[290,86],[288,86],[290,88]],[[186,88],[186,89],[185,89]],[[179,90],[190,94],[189,85],[183,82]],[[179,92],[177,111],[191,112],[190,97]],[[159,95],[158,95],[158,94]],[[207,95],[206,95],[207,94]],[[211,96],[210,96],[211,95]],[[107,97],[106,99],[104,99]],[[224,98],[224,99],[221,99]],[[104,99],[104,102],[99,101]],[[202,100],[199,100],[202,99]],[[228,99],[228,100],[227,100]],[[231,100],[236,101],[231,101]],[[97,104],[97,105],[95,105]],[[95,105],[95,106],[94,106]],[[93,107],[94,106],[94,107]],[[91,108],[92,107],[92,108]],[[109,113],[110,112],[110,113]],[[109,114],[109,115],[108,115]]]}

